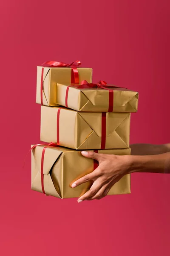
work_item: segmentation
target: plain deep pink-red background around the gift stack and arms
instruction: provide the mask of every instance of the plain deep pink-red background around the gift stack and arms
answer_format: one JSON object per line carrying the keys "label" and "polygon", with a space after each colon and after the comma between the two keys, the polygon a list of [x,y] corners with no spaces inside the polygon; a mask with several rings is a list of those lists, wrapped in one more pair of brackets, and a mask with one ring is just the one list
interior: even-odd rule
{"label": "plain deep pink-red background around the gift stack and arms", "polygon": [[169,256],[170,175],[132,175],[131,195],[77,204],[31,191],[40,138],[36,66],[82,61],[139,91],[131,143],[170,142],[169,0],[0,2],[0,255]]}

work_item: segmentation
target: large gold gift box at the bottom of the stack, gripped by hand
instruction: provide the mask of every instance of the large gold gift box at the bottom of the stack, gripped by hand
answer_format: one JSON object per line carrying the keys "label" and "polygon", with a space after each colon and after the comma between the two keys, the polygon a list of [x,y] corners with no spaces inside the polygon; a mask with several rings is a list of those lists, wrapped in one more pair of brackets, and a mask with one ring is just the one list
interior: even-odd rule
{"label": "large gold gift box at the bottom of the stack, gripped by hand", "polygon": [[[129,155],[130,148],[98,150],[98,153]],[[90,189],[92,183],[86,182],[76,188],[71,188],[71,184],[93,171],[94,160],[82,156],[81,151],[48,145],[37,145],[31,151],[31,189],[46,195],[78,198]],[[125,175],[111,188],[108,195],[128,193],[130,175]]]}

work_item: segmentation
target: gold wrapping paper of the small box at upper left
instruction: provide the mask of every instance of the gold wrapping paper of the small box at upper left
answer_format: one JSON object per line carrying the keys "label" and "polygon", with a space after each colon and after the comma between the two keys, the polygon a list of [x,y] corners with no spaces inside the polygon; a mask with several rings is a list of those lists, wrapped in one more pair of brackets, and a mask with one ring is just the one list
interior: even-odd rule
{"label": "gold wrapping paper of the small box at upper left", "polygon": [[[92,81],[91,68],[77,68],[79,82]],[[41,75],[42,67],[37,67],[37,95],[36,103],[41,104]],[[57,103],[57,83],[71,83],[71,67],[44,67],[42,102],[46,106],[55,106]]]}

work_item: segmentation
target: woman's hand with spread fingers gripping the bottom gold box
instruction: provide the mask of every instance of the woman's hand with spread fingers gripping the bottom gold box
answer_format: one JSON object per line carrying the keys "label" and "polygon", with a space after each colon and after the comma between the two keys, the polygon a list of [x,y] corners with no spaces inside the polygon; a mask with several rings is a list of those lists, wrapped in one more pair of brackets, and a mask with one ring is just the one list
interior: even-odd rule
{"label": "woman's hand with spread fingers gripping the bottom gold box", "polygon": [[98,154],[93,151],[82,151],[82,155],[96,159],[99,166],[90,174],[76,180],[71,187],[74,188],[89,180],[93,180],[93,185],[82,195],[78,202],[84,200],[101,199],[105,197],[111,187],[126,175],[131,168],[131,157],[129,155],[118,156],[112,154]]}

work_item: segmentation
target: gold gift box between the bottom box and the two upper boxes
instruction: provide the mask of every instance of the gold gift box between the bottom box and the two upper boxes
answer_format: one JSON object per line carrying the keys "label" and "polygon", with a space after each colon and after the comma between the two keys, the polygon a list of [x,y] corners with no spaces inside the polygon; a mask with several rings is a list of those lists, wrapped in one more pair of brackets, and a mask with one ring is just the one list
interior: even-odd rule
{"label": "gold gift box between the bottom box and the two upper boxes", "polygon": [[40,140],[73,149],[128,148],[130,113],[41,106]]}

